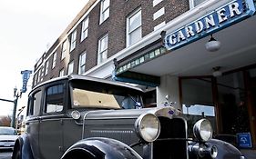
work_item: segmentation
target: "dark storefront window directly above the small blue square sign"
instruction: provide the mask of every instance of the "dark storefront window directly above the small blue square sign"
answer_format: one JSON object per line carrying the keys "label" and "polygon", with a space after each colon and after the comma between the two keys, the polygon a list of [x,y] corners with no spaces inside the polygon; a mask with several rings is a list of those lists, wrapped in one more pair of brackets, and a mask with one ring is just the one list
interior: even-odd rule
{"label": "dark storefront window directly above the small blue square sign", "polygon": [[242,72],[217,78],[222,134],[250,132]]}

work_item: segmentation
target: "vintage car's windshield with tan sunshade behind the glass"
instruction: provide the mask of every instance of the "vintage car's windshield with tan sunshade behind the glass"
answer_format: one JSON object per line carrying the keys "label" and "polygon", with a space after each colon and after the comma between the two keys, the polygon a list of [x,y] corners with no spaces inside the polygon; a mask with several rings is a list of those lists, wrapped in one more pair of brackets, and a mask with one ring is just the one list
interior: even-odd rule
{"label": "vintage car's windshield with tan sunshade behind the glass", "polygon": [[107,109],[136,109],[142,106],[141,92],[108,84],[73,84],[72,106]]}

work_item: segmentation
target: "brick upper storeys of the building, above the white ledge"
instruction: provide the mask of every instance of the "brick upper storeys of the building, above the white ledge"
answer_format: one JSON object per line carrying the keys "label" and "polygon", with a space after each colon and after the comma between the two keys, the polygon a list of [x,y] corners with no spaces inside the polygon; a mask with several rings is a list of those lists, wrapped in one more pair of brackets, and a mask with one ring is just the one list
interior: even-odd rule
{"label": "brick upper storeys of the building, above the white ledge", "polygon": [[[159,4],[153,6],[153,1],[148,3],[147,0],[112,0],[111,2],[90,0],[55,44],[38,60],[35,65],[33,85],[71,72],[83,75],[95,66],[102,65],[109,57],[128,48],[127,21],[133,14],[139,16],[139,23],[141,23],[138,25],[138,32],[141,32],[139,33],[141,35],[136,39],[139,40],[152,33],[154,27],[164,25],[189,10],[187,0],[182,0],[176,5],[175,1],[154,1],[154,3]],[[106,10],[102,11],[103,7],[107,7]],[[101,19],[103,15],[108,16],[104,21]],[[153,16],[160,17],[155,17],[154,20]],[[100,56],[100,44],[103,45],[106,42],[108,42],[108,48],[106,48],[108,53]],[[80,68],[83,60],[79,58],[83,57],[82,54],[86,54],[83,69]]]}

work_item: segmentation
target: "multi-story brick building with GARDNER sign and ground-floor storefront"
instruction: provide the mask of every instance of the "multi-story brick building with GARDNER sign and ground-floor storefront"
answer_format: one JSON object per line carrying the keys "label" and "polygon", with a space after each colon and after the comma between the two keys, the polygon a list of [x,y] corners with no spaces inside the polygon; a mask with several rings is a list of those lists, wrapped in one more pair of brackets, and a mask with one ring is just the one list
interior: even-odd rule
{"label": "multi-story brick building with GARDNER sign and ground-floor storefront", "polygon": [[90,0],[38,60],[33,85],[70,74],[143,85],[148,106],[168,95],[255,147],[255,25],[253,0]]}

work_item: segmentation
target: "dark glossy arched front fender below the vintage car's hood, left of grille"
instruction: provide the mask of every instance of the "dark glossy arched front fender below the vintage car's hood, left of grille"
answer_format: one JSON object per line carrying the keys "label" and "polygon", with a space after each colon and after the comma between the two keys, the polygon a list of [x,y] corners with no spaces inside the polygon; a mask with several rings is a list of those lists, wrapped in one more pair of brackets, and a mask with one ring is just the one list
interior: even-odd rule
{"label": "dark glossy arched front fender below the vintage car's hood, left of grille", "polygon": [[127,144],[104,137],[92,137],[78,141],[68,148],[61,158],[81,158],[81,156],[87,156],[90,159],[142,159]]}

